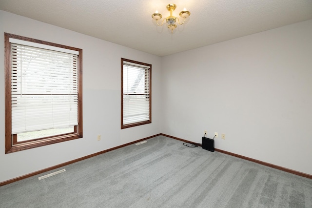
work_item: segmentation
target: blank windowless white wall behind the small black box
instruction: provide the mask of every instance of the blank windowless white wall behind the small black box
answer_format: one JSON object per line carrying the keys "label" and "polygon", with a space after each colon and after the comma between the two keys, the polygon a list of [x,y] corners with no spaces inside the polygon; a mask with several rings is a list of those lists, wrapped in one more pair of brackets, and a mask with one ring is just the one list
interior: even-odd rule
{"label": "blank windowless white wall behind the small black box", "polygon": [[164,57],[162,82],[162,133],[312,174],[312,20]]}

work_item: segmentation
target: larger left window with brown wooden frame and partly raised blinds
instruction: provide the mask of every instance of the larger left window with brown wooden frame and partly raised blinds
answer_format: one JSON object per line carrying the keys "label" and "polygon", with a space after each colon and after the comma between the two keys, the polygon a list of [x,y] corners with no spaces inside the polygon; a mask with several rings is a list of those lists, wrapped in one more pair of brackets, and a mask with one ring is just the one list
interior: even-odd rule
{"label": "larger left window with brown wooden frame and partly raised blinds", "polygon": [[82,137],[82,49],[4,33],[5,153]]}

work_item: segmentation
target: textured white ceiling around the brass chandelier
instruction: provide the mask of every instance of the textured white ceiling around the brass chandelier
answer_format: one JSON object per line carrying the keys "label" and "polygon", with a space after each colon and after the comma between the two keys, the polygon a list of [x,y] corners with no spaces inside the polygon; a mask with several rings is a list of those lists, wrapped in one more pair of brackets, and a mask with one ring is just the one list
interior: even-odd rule
{"label": "textured white ceiling around the brass chandelier", "polygon": [[[174,34],[151,15],[191,16]],[[0,0],[0,9],[157,56],[312,19],[312,0]]]}

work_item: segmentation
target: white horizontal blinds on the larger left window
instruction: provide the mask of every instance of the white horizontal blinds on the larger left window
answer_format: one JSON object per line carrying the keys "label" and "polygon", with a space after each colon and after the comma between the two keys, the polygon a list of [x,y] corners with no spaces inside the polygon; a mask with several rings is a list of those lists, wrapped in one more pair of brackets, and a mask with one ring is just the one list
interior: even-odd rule
{"label": "white horizontal blinds on the larger left window", "polygon": [[12,134],[78,125],[78,55],[11,43]]}

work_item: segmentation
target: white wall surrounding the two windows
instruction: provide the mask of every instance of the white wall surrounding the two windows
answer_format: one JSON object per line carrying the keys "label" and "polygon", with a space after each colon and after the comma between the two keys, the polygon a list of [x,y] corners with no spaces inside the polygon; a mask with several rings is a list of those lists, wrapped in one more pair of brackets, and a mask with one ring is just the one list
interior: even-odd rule
{"label": "white wall surrounding the two windows", "polygon": [[[4,154],[4,32],[83,49],[82,139]],[[152,124],[120,130],[120,58],[152,64]],[[160,57],[0,10],[0,66],[0,182],[161,133]]]}

